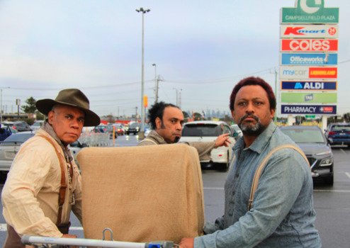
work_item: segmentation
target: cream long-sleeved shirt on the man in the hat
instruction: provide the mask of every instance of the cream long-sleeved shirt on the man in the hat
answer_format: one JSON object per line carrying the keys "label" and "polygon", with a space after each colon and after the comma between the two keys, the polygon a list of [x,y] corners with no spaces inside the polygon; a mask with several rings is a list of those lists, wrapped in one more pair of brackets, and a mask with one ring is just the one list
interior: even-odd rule
{"label": "cream long-sleeved shirt on the man in the hat", "polygon": [[[45,130],[40,129],[16,154],[2,190],[3,215],[18,235],[62,237],[57,229],[58,196],[61,186],[61,167],[54,147],[38,135],[49,137],[64,157],[62,148]],[[62,223],[69,222],[71,209],[81,221],[81,176],[77,164],[72,161],[73,180],[69,182]],[[68,179],[67,167],[64,173]],[[72,193],[75,204],[71,205]]]}

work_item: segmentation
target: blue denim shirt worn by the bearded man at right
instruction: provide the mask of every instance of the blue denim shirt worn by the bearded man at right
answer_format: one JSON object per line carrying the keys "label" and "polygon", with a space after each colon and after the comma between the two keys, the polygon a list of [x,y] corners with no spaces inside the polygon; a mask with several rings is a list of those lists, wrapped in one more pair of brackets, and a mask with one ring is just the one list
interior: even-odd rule
{"label": "blue denim shirt worn by the bearded man at right", "polygon": [[312,176],[302,155],[290,148],[273,153],[248,200],[254,174],[271,150],[293,144],[273,123],[244,149],[240,138],[233,147],[235,161],[225,182],[225,214],[207,222],[207,235],[196,237],[194,247],[321,247],[315,229]]}

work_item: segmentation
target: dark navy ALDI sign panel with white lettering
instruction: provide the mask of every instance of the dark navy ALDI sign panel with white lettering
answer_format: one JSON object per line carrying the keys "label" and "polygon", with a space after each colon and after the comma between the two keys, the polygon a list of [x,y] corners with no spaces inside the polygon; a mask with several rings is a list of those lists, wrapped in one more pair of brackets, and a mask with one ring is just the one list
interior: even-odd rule
{"label": "dark navy ALDI sign panel with white lettering", "polygon": [[281,91],[336,91],[337,81],[281,81]]}

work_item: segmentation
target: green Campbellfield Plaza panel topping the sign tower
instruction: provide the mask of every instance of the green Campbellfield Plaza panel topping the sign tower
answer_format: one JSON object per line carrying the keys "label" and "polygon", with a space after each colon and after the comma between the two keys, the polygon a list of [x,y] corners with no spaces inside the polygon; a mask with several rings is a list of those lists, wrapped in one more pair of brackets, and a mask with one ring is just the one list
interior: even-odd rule
{"label": "green Campbellfield Plaza panel topping the sign tower", "polygon": [[297,8],[282,8],[281,23],[339,23],[339,8],[324,8],[324,0],[298,0]]}

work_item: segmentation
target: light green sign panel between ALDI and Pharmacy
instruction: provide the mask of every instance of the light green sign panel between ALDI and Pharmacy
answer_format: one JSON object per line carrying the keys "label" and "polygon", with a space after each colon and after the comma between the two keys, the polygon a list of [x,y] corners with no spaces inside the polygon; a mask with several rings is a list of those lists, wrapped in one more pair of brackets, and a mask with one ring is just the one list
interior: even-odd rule
{"label": "light green sign panel between ALDI and Pharmacy", "polygon": [[281,93],[281,103],[337,103],[337,93]]}

